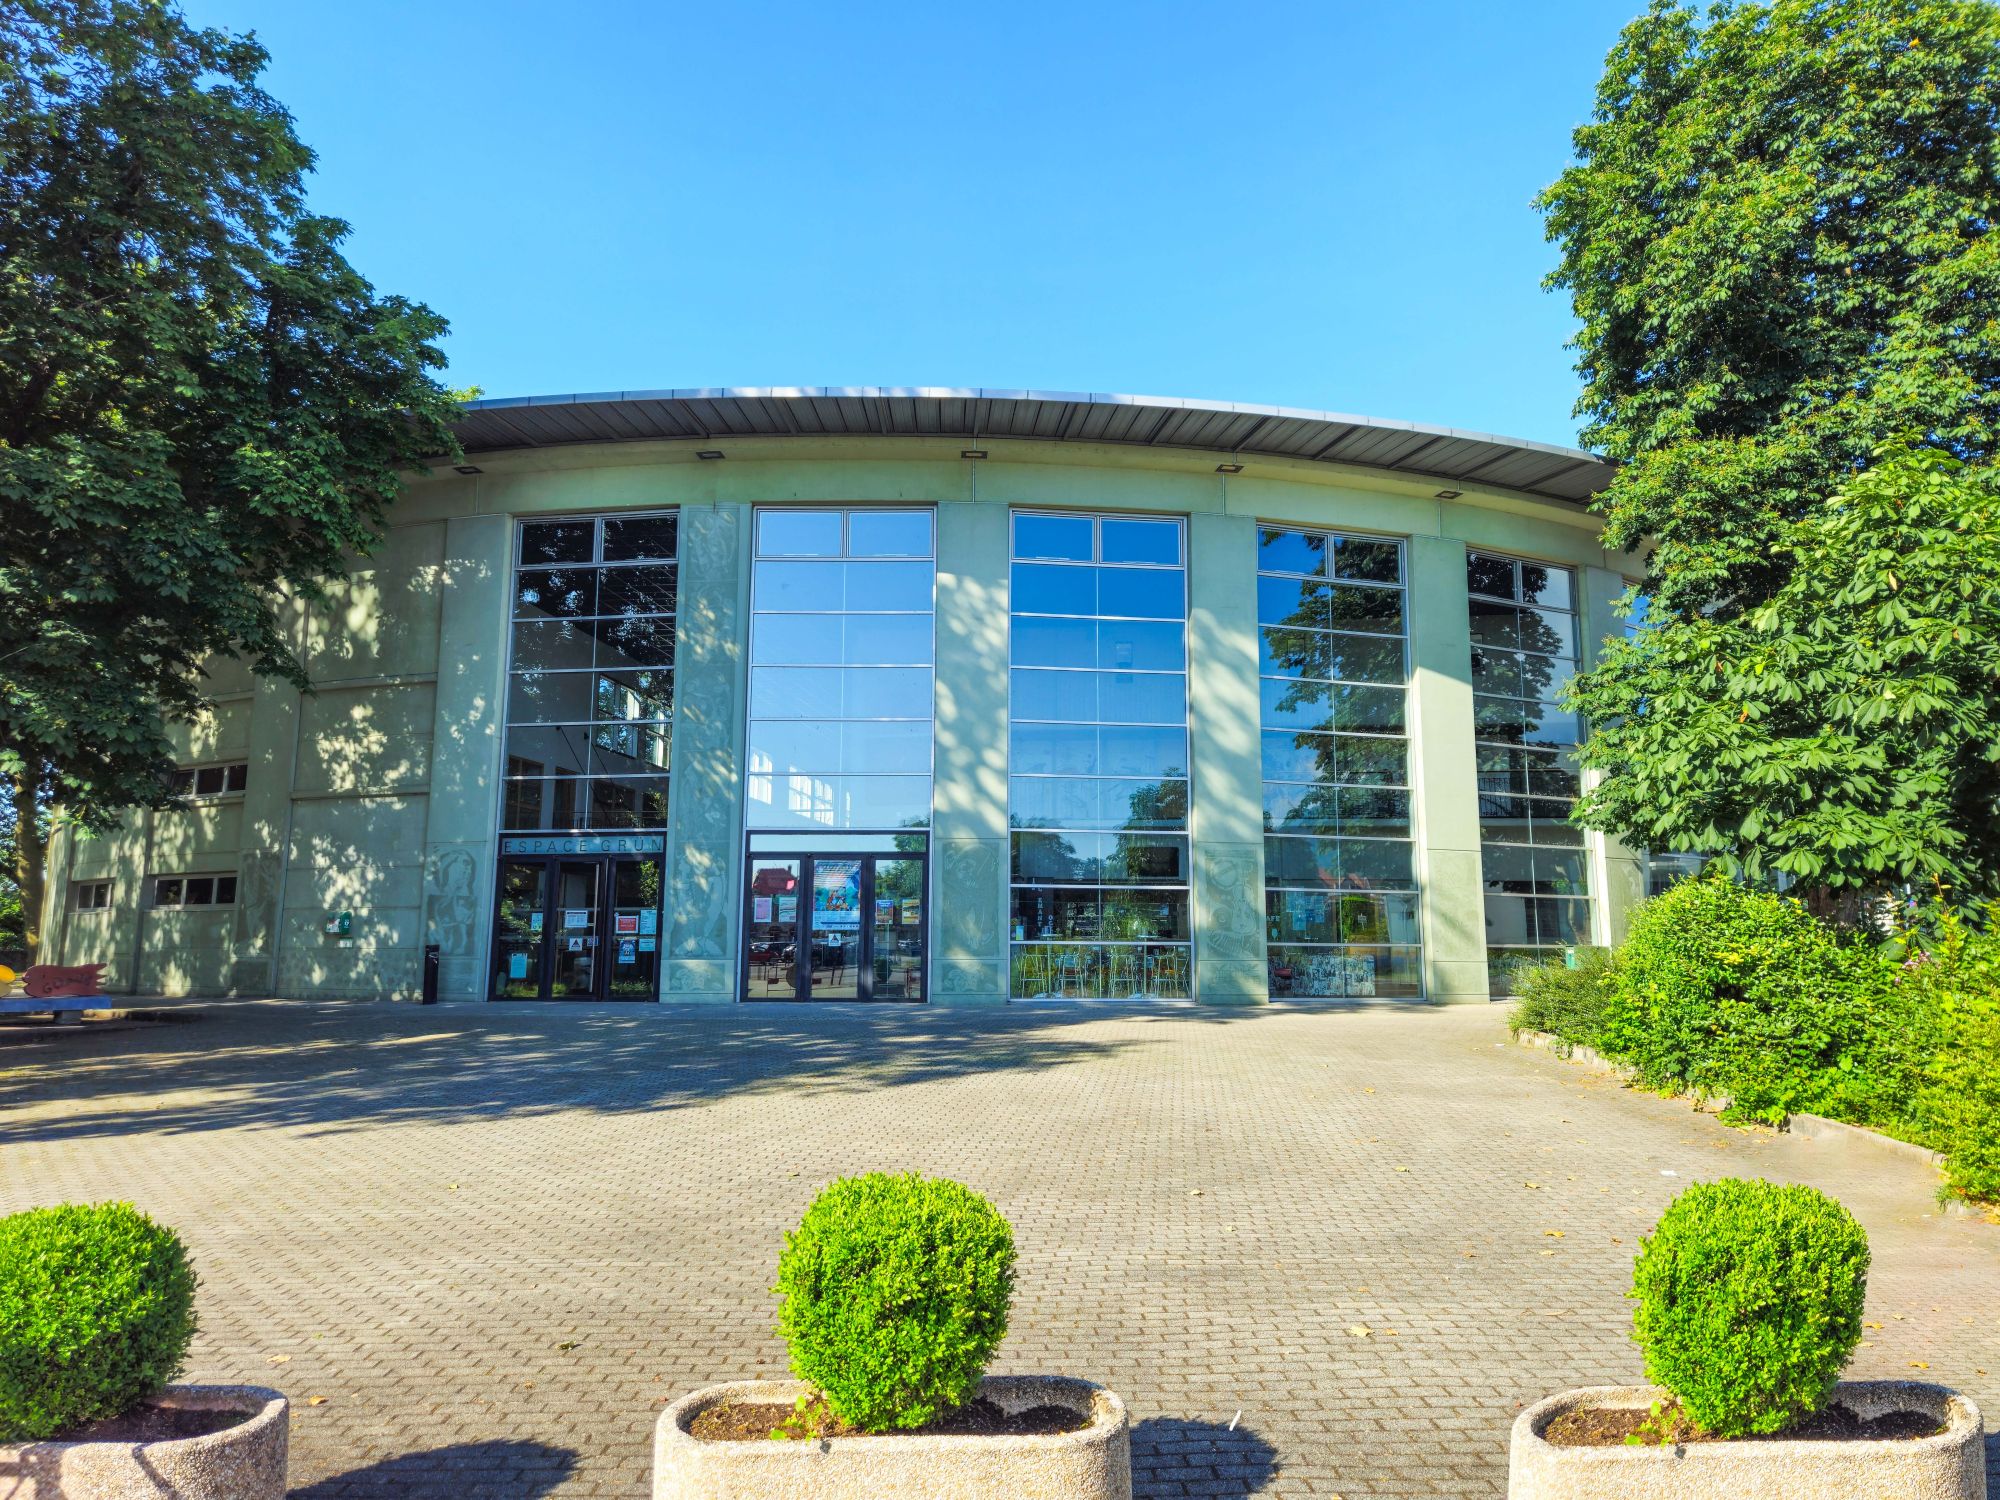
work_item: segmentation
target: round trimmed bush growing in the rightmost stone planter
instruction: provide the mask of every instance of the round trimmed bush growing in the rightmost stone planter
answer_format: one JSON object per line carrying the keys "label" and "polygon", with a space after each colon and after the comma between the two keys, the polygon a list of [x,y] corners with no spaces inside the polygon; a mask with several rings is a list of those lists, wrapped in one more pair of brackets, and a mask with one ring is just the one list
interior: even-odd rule
{"label": "round trimmed bush growing in the rightmost stone planter", "polygon": [[1862,1336],[1868,1236],[1824,1192],[1700,1182],[1632,1268],[1646,1374],[1724,1438],[1782,1432],[1826,1404]]}

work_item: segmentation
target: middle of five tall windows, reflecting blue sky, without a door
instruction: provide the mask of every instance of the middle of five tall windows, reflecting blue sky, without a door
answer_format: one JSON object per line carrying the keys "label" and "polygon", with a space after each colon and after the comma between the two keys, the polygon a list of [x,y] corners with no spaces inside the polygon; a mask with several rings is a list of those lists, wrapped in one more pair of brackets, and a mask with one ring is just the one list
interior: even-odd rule
{"label": "middle of five tall windows, reflecting blue sky, without a door", "polygon": [[1010,990],[1188,996],[1184,524],[1012,522]]}

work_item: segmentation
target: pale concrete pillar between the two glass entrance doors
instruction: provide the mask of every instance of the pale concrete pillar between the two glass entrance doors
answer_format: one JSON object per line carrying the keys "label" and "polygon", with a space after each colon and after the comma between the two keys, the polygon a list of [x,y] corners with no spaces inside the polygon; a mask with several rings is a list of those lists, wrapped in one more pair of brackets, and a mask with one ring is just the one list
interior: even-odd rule
{"label": "pale concrete pillar between the two glass entrance doors", "polygon": [[736,998],[750,506],[680,510],[662,1000]]}

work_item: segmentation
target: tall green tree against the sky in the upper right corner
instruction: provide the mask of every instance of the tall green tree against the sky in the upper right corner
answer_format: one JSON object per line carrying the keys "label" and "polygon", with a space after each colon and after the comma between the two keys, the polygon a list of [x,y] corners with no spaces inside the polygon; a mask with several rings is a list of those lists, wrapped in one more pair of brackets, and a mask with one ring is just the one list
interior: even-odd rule
{"label": "tall green tree against the sky in the upper right corner", "polygon": [[1582,330],[1612,546],[1662,620],[1750,610],[1774,546],[1884,442],[2000,416],[2000,8],[1654,0],[1540,206]]}

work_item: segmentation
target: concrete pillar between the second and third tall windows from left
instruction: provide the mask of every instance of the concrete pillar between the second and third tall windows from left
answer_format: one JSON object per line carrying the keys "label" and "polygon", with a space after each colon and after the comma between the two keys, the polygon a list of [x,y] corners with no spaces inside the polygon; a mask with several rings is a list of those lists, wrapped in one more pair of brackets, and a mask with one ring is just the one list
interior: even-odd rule
{"label": "concrete pillar between the second and third tall windows from left", "polygon": [[1008,556],[1006,506],[938,506],[930,984],[940,1004],[1008,998]]}

